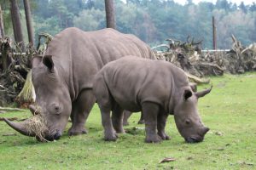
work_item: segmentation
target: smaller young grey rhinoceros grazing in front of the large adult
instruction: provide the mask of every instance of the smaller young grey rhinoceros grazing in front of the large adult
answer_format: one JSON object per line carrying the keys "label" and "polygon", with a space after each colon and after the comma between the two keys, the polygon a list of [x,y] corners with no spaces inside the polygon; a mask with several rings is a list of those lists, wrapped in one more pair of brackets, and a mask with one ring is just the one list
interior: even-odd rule
{"label": "smaller young grey rhinoceros grazing in front of the large adult", "polygon": [[[189,143],[201,142],[209,130],[201,122],[197,100],[211,88],[194,93],[184,71],[169,62],[127,56],[105,65],[96,74],[93,92],[102,113],[104,139],[124,133],[123,109],[143,111],[146,142],[170,139],[166,118],[174,115],[178,132]],[[112,111],[112,118],[110,117]]]}

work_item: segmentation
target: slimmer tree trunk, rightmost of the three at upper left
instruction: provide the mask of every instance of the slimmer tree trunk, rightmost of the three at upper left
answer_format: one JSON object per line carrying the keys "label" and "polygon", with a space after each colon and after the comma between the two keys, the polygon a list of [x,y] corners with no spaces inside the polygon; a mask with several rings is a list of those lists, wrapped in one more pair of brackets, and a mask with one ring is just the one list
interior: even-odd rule
{"label": "slimmer tree trunk, rightmost of the three at upper left", "polygon": [[25,8],[25,14],[26,14],[26,28],[27,28],[27,35],[28,35],[28,41],[34,45],[34,32],[32,27],[32,16],[31,16],[31,10],[30,10],[30,4],[28,0],[23,0],[24,2],[24,8]]}

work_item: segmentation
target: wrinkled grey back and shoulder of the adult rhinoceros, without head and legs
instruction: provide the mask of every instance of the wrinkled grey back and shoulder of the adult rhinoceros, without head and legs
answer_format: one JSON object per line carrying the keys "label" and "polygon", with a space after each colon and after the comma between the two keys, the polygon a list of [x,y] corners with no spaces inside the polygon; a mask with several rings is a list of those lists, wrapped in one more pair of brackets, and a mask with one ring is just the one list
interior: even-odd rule
{"label": "wrinkled grey back and shoulder of the adult rhinoceros, without head and legs", "polygon": [[84,88],[92,88],[94,76],[110,61],[125,55],[156,59],[145,42],[113,29],[86,32],[67,28],[53,38],[46,54],[53,56],[72,99]]}

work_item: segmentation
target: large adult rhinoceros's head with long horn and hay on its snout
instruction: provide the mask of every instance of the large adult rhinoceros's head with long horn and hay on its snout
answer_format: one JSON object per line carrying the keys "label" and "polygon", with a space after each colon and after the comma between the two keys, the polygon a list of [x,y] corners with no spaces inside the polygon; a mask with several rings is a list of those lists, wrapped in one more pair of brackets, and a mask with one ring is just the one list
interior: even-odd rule
{"label": "large adult rhinoceros's head with long horn and hay on its snout", "polygon": [[[35,119],[34,116],[28,121],[19,123],[9,122],[6,119],[5,122],[22,134],[39,137],[38,140],[59,139],[72,110],[67,83],[61,75],[63,74],[56,70],[50,55],[44,56],[43,59],[35,57],[32,61],[32,83],[38,106],[31,105],[30,110],[39,118]],[[35,122],[40,122],[38,126],[41,128],[38,128]]]}

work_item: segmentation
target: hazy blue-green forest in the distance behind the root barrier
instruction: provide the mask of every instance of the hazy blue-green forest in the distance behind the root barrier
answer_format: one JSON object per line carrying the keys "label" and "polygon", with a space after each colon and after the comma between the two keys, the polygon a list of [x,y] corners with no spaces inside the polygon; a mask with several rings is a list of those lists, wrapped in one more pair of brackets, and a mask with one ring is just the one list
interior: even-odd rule
{"label": "hazy blue-green forest in the distance behind the root barrier", "polygon": [[[9,1],[0,3],[5,35],[14,37]],[[18,3],[23,35],[27,37],[24,6],[22,1]],[[54,36],[70,26],[84,31],[106,27],[102,0],[31,0],[30,3],[36,41],[40,32]],[[215,4],[188,0],[185,5],[172,0],[115,0],[114,3],[117,30],[135,34],[151,46],[169,37],[185,41],[190,36],[203,40],[202,48],[212,48],[212,16],[216,20],[218,48],[230,48],[232,34],[244,45],[256,42],[256,3],[245,5],[227,0]]]}

